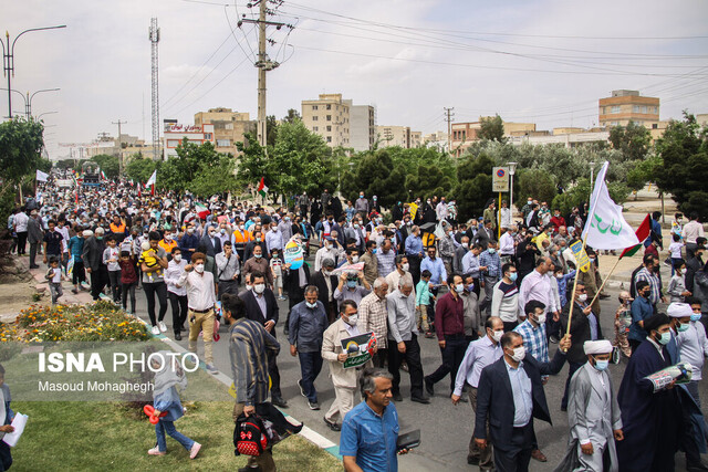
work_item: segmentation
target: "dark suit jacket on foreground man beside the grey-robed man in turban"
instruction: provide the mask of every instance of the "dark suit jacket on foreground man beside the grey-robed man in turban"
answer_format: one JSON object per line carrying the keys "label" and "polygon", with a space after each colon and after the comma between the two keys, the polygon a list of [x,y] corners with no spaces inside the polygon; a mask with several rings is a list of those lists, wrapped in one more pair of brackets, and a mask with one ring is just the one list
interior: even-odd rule
{"label": "dark suit jacket on foreground man beside the grey-robed man in turban", "polygon": [[[539,363],[527,354],[521,367],[531,380],[531,396],[533,397],[532,417],[552,424],[545,392],[541,382],[542,375],[554,375],[561,371],[565,364],[565,355],[561,350],[550,363]],[[513,394],[506,360],[501,357],[485,367],[477,387],[477,413],[475,419],[475,438],[488,439],[494,448],[507,451],[511,448],[509,440],[513,432]],[[487,419],[489,417],[489,436],[487,438]],[[531,444],[528,444],[531,447]]]}

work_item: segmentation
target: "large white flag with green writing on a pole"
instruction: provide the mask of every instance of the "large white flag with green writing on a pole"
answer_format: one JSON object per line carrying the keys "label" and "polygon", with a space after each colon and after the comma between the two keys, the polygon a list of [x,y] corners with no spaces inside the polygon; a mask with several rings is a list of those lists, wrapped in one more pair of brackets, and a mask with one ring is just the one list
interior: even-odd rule
{"label": "large white flag with green writing on a pole", "polygon": [[622,207],[610,198],[605,183],[607,167],[610,162],[605,161],[597,174],[583,238],[586,235],[586,244],[594,249],[625,249],[638,244],[639,240],[622,216]]}

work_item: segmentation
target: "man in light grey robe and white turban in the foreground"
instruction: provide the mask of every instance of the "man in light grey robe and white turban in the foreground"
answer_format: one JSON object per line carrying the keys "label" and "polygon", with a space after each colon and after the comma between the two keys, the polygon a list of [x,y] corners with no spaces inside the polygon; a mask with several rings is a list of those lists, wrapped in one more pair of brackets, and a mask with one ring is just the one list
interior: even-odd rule
{"label": "man in light grey robe and white turban in the foreground", "polygon": [[[587,361],[571,379],[568,423],[571,433],[565,458],[555,472],[607,470],[616,472],[615,440],[622,441],[622,413],[614,396],[612,377],[607,373],[612,343],[607,339],[583,344]],[[603,466],[605,452],[610,468]]]}

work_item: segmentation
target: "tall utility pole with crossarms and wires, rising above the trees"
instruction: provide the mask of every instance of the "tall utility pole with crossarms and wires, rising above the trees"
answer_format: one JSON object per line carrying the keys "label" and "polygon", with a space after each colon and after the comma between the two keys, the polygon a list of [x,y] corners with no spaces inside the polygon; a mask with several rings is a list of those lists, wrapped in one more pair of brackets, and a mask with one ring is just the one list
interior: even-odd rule
{"label": "tall utility pole with crossarms and wires, rising above the trees", "polygon": [[275,21],[268,21],[267,15],[273,13],[272,10],[268,10],[268,0],[252,1],[249,3],[249,6],[259,7],[258,20],[242,18],[237,24],[239,25],[239,28],[243,23],[258,24],[258,61],[256,61],[254,64],[256,67],[258,67],[258,144],[260,144],[264,148],[268,138],[268,129],[266,123],[266,73],[280,65],[279,62],[271,61],[266,53],[266,44],[269,41],[272,43],[272,40],[269,40],[266,36],[266,30],[268,27],[275,27],[278,30],[280,30],[282,27],[288,27],[292,30],[293,27]]}

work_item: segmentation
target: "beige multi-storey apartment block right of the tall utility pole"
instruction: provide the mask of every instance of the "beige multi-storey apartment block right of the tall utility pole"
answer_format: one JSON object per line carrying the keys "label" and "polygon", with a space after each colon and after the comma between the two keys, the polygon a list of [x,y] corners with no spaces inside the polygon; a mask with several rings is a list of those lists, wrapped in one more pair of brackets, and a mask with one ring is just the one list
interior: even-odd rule
{"label": "beige multi-storey apartment block right of the tall utility pole", "polygon": [[351,101],[342,99],[342,94],[320,94],[319,99],[303,99],[302,123],[322,136],[327,146],[351,147],[350,104]]}

